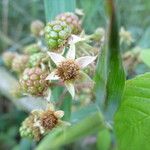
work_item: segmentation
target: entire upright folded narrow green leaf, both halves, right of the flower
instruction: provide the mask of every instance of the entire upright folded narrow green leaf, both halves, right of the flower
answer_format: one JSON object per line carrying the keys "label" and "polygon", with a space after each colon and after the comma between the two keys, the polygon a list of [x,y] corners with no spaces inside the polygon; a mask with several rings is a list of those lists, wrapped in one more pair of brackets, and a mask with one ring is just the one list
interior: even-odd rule
{"label": "entire upright folded narrow green leaf, both halves, right of the flower", "polygon": [[[97,102],[103,109],[110,103],[112,105],[109,107],[113,107],[114,103],[120,102],[125,83],[119,47],[118,22],[113,0],[108,1],[108,7],[110,19],[108,41],[99,55],[95,76]],[[115,110],[114,107],[113,110]]]}

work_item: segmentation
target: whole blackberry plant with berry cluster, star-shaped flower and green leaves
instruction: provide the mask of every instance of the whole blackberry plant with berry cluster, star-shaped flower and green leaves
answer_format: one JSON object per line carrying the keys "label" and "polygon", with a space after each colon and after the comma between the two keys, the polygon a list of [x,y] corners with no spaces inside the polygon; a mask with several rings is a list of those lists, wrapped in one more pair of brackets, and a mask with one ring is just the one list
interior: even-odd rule
{"label": "whole blackberry plant with berry cluster, star-shaped flower and green leaves", "polygon": [[139,48],[120,53],[134,40],[123,27],[119,30],[113,0],[107,2],[108,29],[98,27],[88,35],[73,12],[55,14],[54,20],[46,16],[45,26],[39,20],[32,22],[35,39],[19,51],[22,54],[3,54],[4,64],[17,72],[18,88],[13,92],[20,99],[15,104],[30,111],[20,136],[37,141],[37,150],[66,148],[80,137],[81,144],[73,146],[92,141],[98,149],[116,148],[114,133],[119,150],[149,150],[145,139],[150,136],[150,74],[126,81],[122,65],[131,77],[143,58],[149,66],[149,55]]}

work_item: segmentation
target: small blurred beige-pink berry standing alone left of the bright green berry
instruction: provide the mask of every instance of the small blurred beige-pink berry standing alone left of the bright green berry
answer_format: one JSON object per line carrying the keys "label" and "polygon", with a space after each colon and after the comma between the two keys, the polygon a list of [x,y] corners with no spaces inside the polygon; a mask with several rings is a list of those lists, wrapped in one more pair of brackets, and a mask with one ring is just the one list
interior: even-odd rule
{"label": "small blurred beige-pink berry standing alone left of the bright green berry", "polygon": [[44,29],[44,23],[40,20],[35,20],[31,23],[30,26],[31,33],[34,36],[40,36],[42,34],[42,30]]}

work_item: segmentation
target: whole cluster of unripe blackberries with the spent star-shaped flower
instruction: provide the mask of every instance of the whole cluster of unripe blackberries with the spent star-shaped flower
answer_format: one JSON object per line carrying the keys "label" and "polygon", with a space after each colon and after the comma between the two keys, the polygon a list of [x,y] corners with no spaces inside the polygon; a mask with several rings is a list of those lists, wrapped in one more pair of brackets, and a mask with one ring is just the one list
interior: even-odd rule
{"label": "whole cluster of unripe blackberries with the spent star-shaped flower", "polygon": [[[72,99],[75,99],[75,96],[78,97],[75,94],[77,84],[82,84],[83,78],[88,79],[86,82],[93,85],[92,80],[83,71],[89,64],[95,65],[96,56],[93,47],[86,43],[86,39],[89,38],[91,41],[95,36],[80,37],[80,22],[75,14],[69,12],[58,15],[45,27],[41,21],[36,20],[31,24],[31,33],[37,42],[25,46],[22,53],[4,53],[4,64],[18,77],[18,86],[14,88],[17,91],[13,91],[16,96],[42,97],[43,100],[49,100],[46,101],[47,105],[52,105],[50,94],[53,94],[53,90],[58,86],[64,87],[64,93],[67,89]],[[83,57],[76,58],[76,51]],[[90,90],[91,88],[92,86]],[[66,125],[66,122],[61,120],[63,115],[64,112],[55,111],[54,106],[45,110],[33,110],[22,122],[20,135],[39,141],[53,128]]]}

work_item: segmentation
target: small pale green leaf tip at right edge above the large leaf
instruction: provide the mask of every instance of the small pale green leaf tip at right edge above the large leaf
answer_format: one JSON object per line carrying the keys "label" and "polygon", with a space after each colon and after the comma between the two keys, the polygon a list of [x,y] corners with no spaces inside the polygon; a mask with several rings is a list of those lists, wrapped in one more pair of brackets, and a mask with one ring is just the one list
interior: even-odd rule
{"label": "small pale green leaf tip at right edge above the large leaf", "polygon": [[148,67],[150,67],[150,49],[142,50],[139,57]]}

